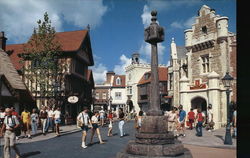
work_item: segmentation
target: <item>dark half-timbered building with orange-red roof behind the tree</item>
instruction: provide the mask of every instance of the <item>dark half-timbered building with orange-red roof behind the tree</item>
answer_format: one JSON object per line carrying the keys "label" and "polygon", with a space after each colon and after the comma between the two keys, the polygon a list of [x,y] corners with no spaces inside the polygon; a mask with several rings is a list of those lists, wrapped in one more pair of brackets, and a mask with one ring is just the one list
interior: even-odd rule
{"label": "dark half-timbered building with orange-red roof behind the tree", "polygon": [[[44,106],[56,105],[62,108],[62,112],[69,112],[71,117],[76,118],[83,106],[91,106],[92,104],[92,89],[93,76],[88,70],[89,66],[94,65],[91,42],[88,30],[58,32],[55,34],[55,39],[61,45],[61,53],[58,56],[57,64],[61,67],[60,72],[56,72],[56,80],[51,79],[51,74],[48,77],[48,84],[54,82],[57,88],[53,92],[53,96],[43,96],[40,93],[40,87],[36,84],[34,74],[28,74],[23,71],[25,68],[34,66],[32,61],[25,60],[20,63],[20,54],[23,53],[24,44],[11,44],[6,46],[10,59],[15,68],[22,76],[23,81],[32,93],[36,100],[38,108]],[[27,75],[33,75],[34,79],[30,80]],[[50,89],[48,89],[49,91]],[[77,96],[77,103],[69,103],[69,96]]]}

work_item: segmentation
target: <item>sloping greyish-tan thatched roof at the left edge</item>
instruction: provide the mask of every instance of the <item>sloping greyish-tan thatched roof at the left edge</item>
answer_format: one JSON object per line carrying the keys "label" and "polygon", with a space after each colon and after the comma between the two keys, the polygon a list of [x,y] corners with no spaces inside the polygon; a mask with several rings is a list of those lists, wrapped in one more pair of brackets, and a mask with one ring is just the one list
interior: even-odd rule
{"label": "sloping greyish-tan thatched roof at the left edge", "polygon": [[21,77],[14,68],[7,53],[0,52],[0,74],[3,74],[14,89],[26,90]]}

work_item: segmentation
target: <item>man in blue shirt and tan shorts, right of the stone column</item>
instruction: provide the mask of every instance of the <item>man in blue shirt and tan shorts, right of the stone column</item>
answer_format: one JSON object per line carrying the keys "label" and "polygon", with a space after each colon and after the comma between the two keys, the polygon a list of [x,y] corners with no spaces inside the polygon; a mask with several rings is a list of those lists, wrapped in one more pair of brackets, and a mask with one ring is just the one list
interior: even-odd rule
{"label": "man in blue shirt and tan shorts, right of the stone column", "polygon": [[186,111],[183,110],[183,106],[179,106],[179,119],[178,119],[178,134],[177,136],[185,137],[185,120],[186,120]]}

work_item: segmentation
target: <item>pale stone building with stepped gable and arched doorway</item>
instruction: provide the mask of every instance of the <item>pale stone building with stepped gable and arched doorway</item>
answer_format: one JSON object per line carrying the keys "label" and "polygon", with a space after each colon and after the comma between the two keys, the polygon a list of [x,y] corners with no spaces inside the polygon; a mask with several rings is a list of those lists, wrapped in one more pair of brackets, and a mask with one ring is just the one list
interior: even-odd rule
{"label": "pale stone building with stepped gable and arched doorway", "polygon": [[178,58],[174,41],[171,44],[171,71],[173,105],[183,105],[189,111],[201,108],[206,113],[212,105],[215,128],[226,124],[227,101],[222,78],[226,72],[234,77],[231,101],[236,102],[236,35],[228,31],[228,18],[215,14],[203,5],[192,29],[184,31],[185,55]]}

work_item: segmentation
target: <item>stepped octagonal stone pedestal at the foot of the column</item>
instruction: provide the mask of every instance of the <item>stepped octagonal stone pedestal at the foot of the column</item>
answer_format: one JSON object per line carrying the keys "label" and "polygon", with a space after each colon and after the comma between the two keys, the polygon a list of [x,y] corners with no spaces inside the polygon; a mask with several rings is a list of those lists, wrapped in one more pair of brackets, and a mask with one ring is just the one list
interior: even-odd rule
{"label": "stepped octagonal stone pedestal at the foot of the column", "polygon": [[192,158],[190,151],[167,131],[165,116],[145,116],[135,138],[117,154],[117,158]]}

